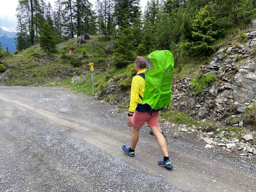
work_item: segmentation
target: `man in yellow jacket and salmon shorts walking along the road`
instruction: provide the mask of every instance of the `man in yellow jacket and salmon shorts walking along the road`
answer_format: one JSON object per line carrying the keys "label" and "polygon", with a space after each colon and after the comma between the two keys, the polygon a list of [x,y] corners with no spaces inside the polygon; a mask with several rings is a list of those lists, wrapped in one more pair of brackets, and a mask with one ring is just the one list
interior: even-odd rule
{"label": "man in yellow jacket and salmon shorts walking along the road", "polygon": [[146,59],[144,57],[137,57],[134,66],[137,74],[132,79],[131,100],[127,120],[128,126],[132,127],[131,146],[127,147],[122,145],[122,149],[129,156],[135,156],[134,150],[139,139],[140,128],[145,122],[147,122],[147,126],[150,127],[151,131],[157,138],[157,142],[163,152],[164,159],[163,161],[158,161],[158,165],[166,167],[167,169],[172,169],[172,161],[169,159],[166,140],[163,134],[161,134],[161,129],[159,128],[159,112],[150,114],[141,107],[145,87],[145,78],[143,78],[143,75],[146,73]]}

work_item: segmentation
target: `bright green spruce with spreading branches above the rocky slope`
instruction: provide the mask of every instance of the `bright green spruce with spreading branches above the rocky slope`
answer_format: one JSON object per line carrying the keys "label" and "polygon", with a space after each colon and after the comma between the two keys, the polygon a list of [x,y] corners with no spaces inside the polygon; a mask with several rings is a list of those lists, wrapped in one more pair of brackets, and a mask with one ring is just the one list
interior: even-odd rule
{"label": "bright green spruce with spreading branches above the rocky slope", "polygon": [[215,25],[216,17],[212,14],[211,5],[202,7],[192,21],[192,41],[181,44],[190,55],[210,55],[214,50],[213,42],[224,29]]}

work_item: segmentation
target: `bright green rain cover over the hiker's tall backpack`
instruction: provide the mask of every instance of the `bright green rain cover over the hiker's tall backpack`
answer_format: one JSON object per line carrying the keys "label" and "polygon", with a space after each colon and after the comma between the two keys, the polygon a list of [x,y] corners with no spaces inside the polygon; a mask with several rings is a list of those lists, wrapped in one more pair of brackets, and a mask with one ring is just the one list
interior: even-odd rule
{"label": "bright green rain cover over the hiker's tall backpack", "polygon": [[173,69],[174,59],[170,51],[154,51],[148,55],[142,104],[148,104],[154,110],[170,104]]}

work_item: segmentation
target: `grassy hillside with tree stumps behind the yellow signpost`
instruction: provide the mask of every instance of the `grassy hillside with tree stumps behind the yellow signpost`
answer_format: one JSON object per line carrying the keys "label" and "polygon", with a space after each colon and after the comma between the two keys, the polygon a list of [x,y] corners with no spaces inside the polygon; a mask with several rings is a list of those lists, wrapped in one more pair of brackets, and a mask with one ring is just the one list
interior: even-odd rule
{"label": "grassy hillside with tree stumps behind the yellow signpost", "polygon": [[[37,44],[24,51],[19,51],[18,55],[2,58],[5,65],[12,68],[8,74],[9,81],[6,84],[23,86],[52,84],[52,82],[56,84],[59,79],[65,81],[66,78],[72,77],[73,72],[68,72],[66,66],[76,67],[76,73],[80,75],[88,72],[88,62],[94,62],[95,72],[102,75],[112,58],[111,54],[105,53],[105,46],[112,44],[113,40],[97,41],[97,38],[97,36],[92,36],[90,40],[81,45],[76,44],[76,39],[67,40],[59,44],[57,52],[49,57],[44,56],[47,54]],[[70,47],[75,48],[72,54],[69,54]],[[63,55],[65,57],[61,57]],[[89,93],[86,90],[89,90],[90,83],[72,86],[78,86],[78,91]]]}

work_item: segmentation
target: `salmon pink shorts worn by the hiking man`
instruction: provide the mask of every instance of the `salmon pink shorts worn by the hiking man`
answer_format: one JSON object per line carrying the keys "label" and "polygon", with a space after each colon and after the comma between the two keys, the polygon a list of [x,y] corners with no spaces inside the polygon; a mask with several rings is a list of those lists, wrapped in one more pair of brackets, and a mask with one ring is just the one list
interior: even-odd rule
{"label": "salmon pink shorts worn by the hiking man", "polygon": [[133,114],[132,123],[135,127],[142,127],[145,122],[147,122],[148,127],[158,127],[158,114],[159,112],[152,113],[152,115],[150,115],[148,112],[135,111]]}

